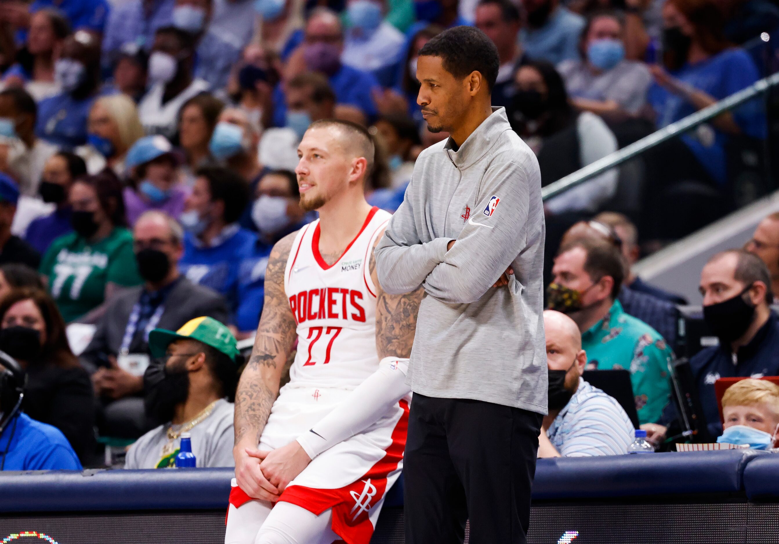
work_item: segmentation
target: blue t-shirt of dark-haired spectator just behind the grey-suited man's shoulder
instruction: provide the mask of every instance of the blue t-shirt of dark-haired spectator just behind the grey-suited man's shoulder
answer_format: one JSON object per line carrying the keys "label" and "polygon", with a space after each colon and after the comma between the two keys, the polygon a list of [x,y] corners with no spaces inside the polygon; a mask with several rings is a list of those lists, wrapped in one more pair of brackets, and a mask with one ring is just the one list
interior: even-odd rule
{"label": "blue t-shirt of dark-haired spectator just behind the grey-suited man's shoulder", "polygon": [[204,247],[192,233],[185,233],[179,266],[192,283],[222,293],[234,317],[238,308],[238,268],[252,256],[256,241],[255,233],[237,224],[226,226],[211,247]]}

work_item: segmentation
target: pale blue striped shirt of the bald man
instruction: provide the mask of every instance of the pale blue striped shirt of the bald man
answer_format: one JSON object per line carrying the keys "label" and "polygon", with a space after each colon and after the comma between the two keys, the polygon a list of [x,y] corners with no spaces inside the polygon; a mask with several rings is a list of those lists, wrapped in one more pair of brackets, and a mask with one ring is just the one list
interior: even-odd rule
{"label": "pale blue striped shirt of the bald man", "polygon": [[626,454],[635,433],[619,402],[579,378],[579,388],[547,436],[563,457],[590,457]]}

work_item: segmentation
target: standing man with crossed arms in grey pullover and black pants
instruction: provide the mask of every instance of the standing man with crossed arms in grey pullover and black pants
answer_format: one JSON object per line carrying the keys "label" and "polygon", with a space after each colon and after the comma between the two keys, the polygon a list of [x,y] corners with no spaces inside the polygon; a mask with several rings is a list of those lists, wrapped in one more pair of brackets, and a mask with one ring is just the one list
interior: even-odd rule
{"label": "standing man with crossed arms in grey pullover and black pants", "polygon": [[[547,412],[544,209],[533,152],[492,108],[498,51],[456,26],[419,51],[431,132],[375,250],[387,293],[423,286],[408,379],[406,542],[527,542]],[[573,361],[572,361],[573,362]]]}

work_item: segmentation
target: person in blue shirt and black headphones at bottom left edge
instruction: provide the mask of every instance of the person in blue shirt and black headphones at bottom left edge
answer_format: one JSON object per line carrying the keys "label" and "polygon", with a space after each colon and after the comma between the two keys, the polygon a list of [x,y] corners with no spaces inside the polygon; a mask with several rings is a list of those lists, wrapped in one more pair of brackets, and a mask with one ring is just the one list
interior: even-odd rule
{"label": "person in blue shirt and black headphones at bottom left edge", "polygon": [[6,384],[0,394],[0,471],[81,470],[79,458],[61,430],[21,411],[24,370],[2,353],[0,380]]}

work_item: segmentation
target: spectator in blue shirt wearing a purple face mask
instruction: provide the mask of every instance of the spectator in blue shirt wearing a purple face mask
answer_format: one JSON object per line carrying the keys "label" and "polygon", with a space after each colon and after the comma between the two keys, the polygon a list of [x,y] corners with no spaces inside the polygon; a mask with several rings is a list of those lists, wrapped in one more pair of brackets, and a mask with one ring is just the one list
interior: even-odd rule
{"label": "spectator in blue shirt wearing a purple face mask", "polygon": [[[343,50],[344,30],[337,14],[326,8],[314,9],[305,25],[305,40],[294,53],[298,64],[302,61],[305,69],[326,75],[339,104],[359,107],[372,120],[377,114],[372,92],[379,89],[379,82],[370,72],[343,64]],[[292,58],[290,64],[294,64]],[[280,86],[273,93],[273,102],[273,125],[282,127],[286,125],[287,107]]]}

